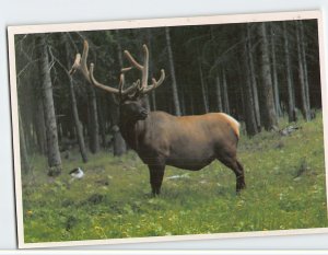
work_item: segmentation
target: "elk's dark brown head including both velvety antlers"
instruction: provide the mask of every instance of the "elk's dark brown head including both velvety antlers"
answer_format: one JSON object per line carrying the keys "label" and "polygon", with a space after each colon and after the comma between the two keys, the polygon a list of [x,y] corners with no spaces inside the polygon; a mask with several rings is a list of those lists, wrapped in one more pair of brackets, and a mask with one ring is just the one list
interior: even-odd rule
{"label": "elk's dark brown head including both velvety antlers", "polygon": [[[150,85],[148,84],[148,47],[143,45],[143,65],[140,65],[128,50],[124,51],[131,66],[121,69],[118,89],[105,85],[94,78],[94,63],[91,63],[90,68],[87,68],[86,65],[87,54],[89,44],[86,40],[84,40],[82,57],[80,54],[77,54],[75,61],[69,73],[72,76],[77,70],[79,70],[90,84],[108,93],[117,95],[121,118],[128,118],[129,120],[133,121],[145,119],[148,116],[148,111],[145,107],[144,96],[152,90],[160,86],[165,79],[165,72],[162,69],[160,79],[155,80],[153,78],[152,83]],[[132,70],[133,68],[141,71],[141,81],[138,80],[137,82],[133,82],[131,86],[125,90],[125,73]]]}

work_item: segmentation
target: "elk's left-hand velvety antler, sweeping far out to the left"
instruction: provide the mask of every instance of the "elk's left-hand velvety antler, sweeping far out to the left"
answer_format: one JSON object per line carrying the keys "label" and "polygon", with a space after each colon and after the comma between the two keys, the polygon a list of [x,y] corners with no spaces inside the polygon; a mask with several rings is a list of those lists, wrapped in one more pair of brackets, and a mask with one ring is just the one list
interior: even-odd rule
{"label": "elk's left-hand velvety antler, sweeping far out to the left", "polygon": [[137,83],[133,83],[133,85],[131,85],[127,90],[122,90],[124,84],[125,84],[124,73],[121,73],[121,76],[120,76],[119,89],[107,86],[107,85],[104,85],[101,82],[98,82],[93,76],[94,63],[91,63],[90,69],[87,69],[87,66],[86,66],[87,54],[89,54],[89,44],[86,40],[84,40],[82,57],[81,57],[81,54],[77,54],[75,61],[74,61],[71,70],[69,71],[70,76],[73,76],[75,73],[75,71],[79,70],[82,72],[82,74],[84,76],[84,78],[86,79],[86,81],[89,83],[95,85],[96,88],[105,90],[106,92],[114,93],[114,94],[126,95],[126,94],[131,93],[133,90],[136,90],[136,88],[138,86]]}

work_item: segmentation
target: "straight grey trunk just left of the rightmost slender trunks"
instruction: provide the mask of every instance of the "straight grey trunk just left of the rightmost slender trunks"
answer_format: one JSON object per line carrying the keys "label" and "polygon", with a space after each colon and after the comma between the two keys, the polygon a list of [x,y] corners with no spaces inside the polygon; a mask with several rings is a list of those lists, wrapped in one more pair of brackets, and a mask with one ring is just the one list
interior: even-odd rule
{"label": "straight grey trunk just left of the rightmost slender trunks", "polygon": [[295,94],[293,88],[293,73],[291,67],[291,57],[290,57],[290,42],[286,31],[286,22],[283,22],[283,38],[284,38],[284,59],[285,59],[285,70],[286,70],[286,83],[288,83],[288,94],[289,94],[289,121],[296,121],[295,113]]}

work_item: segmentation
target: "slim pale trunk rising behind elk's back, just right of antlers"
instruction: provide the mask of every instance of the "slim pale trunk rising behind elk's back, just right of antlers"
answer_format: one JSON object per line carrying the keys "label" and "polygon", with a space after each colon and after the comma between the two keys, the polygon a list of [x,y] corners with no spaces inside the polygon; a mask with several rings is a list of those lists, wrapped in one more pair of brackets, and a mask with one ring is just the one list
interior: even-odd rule
{"label": "slim pale trunk rising behind elk's back, just right of antlers", "polygon": [[171,71],[171,79],[172,79],[172,93],[173,93],[173,104],[174,104],[174,112],[176,116],[181,115],[179,97],[177,92],[177,83],[175,77],[175,68],[174,68],[174,60],[173,60],[173,53],[171,46],[171,36],[169,36],[169,27],[165,27],[165,36],[166,36],[166,46],[168,51],[168,62],[169,62],[169,71]]}

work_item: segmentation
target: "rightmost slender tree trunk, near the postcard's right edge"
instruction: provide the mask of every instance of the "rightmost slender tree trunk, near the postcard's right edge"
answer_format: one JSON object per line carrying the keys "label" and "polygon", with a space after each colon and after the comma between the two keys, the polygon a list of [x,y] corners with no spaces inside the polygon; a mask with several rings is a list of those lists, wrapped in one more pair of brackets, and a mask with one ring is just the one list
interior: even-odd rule
{"label": "rightmost slender tree trunk, near the postcard's right edge", "polygon": [[[308,98],[308,82],[307,82],[307,70],[305,49],[304,49],[304,32],[303,23],[298,21],[296,23],[296,37],[297,37],[297,59],[298,59],[298,79],[301,84],[301,98],[302,98],[302,113],[306,121],[311,120],[309,112],[309,98]],[[306,73],[306,74],[305,74]]]}

